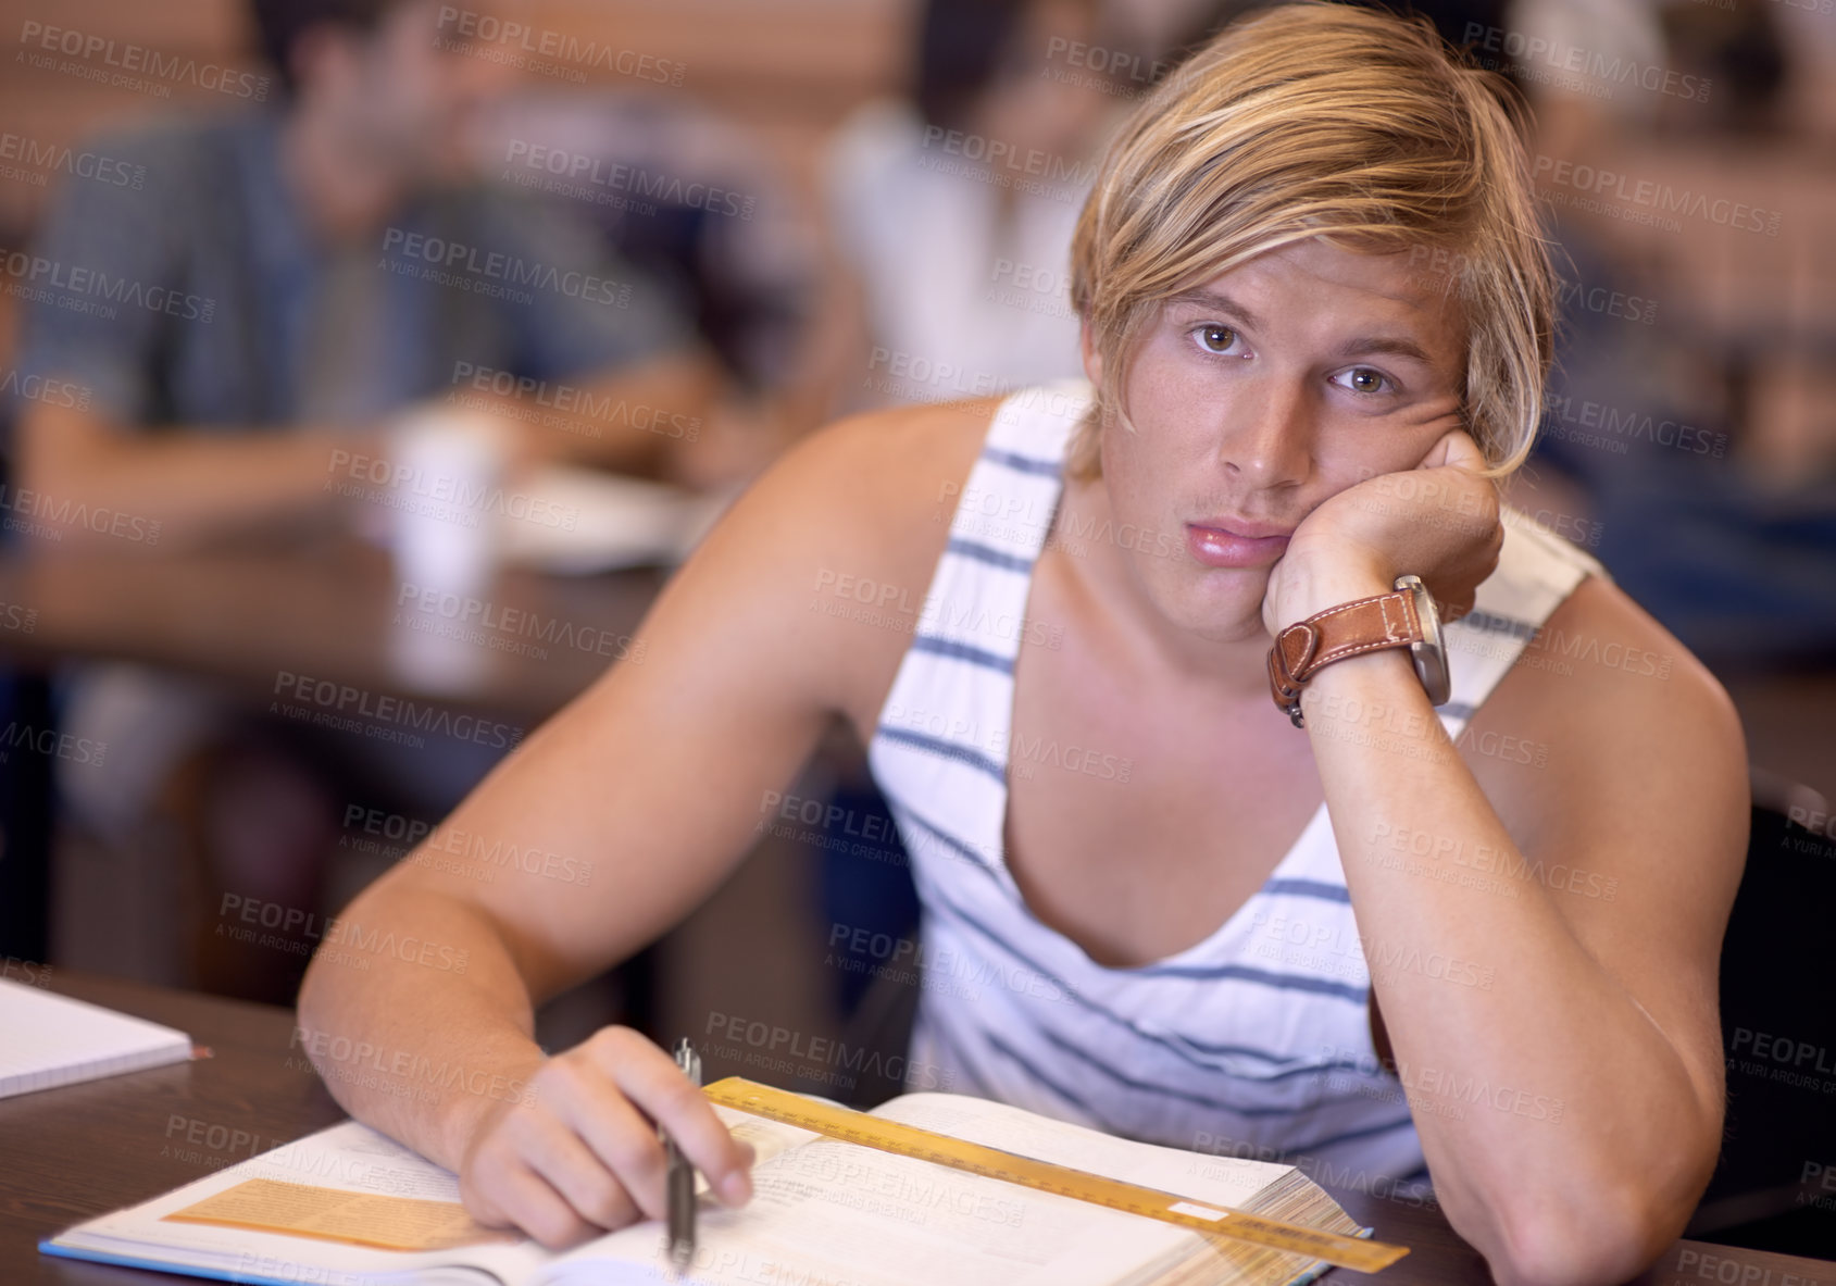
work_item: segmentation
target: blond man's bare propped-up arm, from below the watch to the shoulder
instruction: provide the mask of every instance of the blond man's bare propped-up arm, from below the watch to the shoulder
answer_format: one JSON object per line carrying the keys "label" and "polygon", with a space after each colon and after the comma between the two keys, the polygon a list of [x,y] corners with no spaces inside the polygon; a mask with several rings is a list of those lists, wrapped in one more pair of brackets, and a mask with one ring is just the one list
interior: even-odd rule
{"label": "blond man's bare propped-up arm, from below the watch to the shoulder", "polygon": [[1726,696],[1616,590],[1583,582],[1544,628],[1676,665],[1513,671],[1474,728],[1537,751],[1469,753],[1483,784],[1401,652],[1326,667],[1305,716],[1449,1218],[1500,1282],[1616,1282],[1682,1231],[1718,1152],[1746,772]]}

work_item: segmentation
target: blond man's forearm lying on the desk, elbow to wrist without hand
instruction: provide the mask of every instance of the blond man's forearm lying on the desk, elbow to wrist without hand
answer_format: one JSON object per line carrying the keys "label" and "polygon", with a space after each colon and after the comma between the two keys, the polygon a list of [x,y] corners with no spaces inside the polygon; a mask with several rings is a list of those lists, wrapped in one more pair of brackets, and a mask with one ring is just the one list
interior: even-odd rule
{"label": "blond man's forearm lying on the desk, elbow to wrist without hand", "polygon": [[378,886],[327,930],[294,1043],[353,1117],[457,1170],[477,1122],[527,1100],[543,1062],[532,1032],[529,990],[483,913]]}

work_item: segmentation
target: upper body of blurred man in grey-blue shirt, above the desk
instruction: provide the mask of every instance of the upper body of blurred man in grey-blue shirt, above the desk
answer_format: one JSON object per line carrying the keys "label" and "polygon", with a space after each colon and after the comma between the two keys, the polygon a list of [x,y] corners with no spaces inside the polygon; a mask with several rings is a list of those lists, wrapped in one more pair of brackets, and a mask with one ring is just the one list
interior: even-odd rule
{"label": "upper body of blurred man in grey-blue shirt, above the desk", "polygon": [[[274,105],[114,136],[136,182],[73,182],[51,211],[44,261],[169,307],[39,299],[22,366],[90,395],[20,408],[20,485],[158,520],[169,546],[334,507],[327,450],[380,450],[382,423],[452,393],[455,362],[709,404],[716,367],[670,296],[472,176],[465,130],[505,77],[446,48],[441,6],[255,0],[250,17]],[[554,287],[503,288],[507,265]],[[655,465],[639,441],[655,437],[604,439],[606,463]]]}

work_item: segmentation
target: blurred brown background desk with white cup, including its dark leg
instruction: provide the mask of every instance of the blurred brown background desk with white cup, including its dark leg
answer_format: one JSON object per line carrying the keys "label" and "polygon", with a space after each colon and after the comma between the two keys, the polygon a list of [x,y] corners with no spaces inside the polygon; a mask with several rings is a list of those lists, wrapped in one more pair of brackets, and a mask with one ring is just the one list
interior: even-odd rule
{"label": "blurred brown background desk with white cup, including its dark leg", "polygon": [[[387,553],[356,542],[15,553],[0,558],[0,658],[26,674],[127,661],[198,676],[250,713],[279,709],[301,724],[409,746],[415,729],[492,720],[499,740],[490,744],[505,744],[512,728],[532,729],[626,654],[665,575],[512,570],[476,595],[430,597],[397,582]],[[61,737],[42,685],[20,691],[35,704],[13,709],[15,724]],[[15,773],[33,775],[18,777],[9,805],[0,952],[48,959],[61,862],[51,757],[18,759]],[[103,874],[66,874],[64,884],[86,878]],[[130,889],[121,871],[108,880]],[[108,922],[90,937],[129,950],[123,942],[138,941],[129,928]],[[116,966],[127,968],[125,959]]]}

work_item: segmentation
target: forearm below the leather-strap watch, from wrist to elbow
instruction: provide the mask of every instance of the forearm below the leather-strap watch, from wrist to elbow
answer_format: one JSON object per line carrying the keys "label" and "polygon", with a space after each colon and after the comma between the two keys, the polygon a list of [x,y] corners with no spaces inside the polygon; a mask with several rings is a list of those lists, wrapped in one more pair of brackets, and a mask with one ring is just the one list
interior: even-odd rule
{"label": "forearm below the leather-strap watch, from wrist to elbow", "polygon": [[[1491,1224],[1500,1238],[1522,1231],[1518,1218],[1573,1220],[1577,1231],[1623,1220],[1616,1198],[1662,1192],[1674,1159],[1717,1128],[1684,1060],[1579,944],[1555,893],[1509,874],[1522,854],[1406,654],[1327,665],[1304,711],[1397,1071],[1449,1213],[1467,1214],[1469,1236]],[[1410,852],[1416,836],[1427,854]],[[1432,878],[1476,854],[1506,874]]]}

